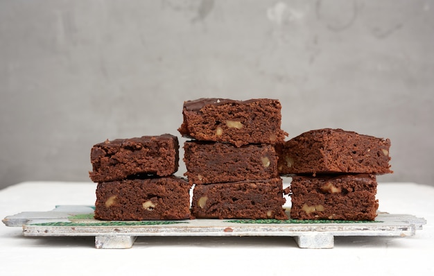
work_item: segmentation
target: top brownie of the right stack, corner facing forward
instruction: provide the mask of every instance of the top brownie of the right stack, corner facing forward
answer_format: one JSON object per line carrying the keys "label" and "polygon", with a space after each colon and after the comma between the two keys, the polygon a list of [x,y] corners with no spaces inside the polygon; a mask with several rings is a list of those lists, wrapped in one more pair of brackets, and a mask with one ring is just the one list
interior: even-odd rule
{"label": "top brownie of the right stack, corner facing forward", "polygon": [[276,146],[281,175],[392,173],[389,149],[389,139],[331,128],[304,132]]}

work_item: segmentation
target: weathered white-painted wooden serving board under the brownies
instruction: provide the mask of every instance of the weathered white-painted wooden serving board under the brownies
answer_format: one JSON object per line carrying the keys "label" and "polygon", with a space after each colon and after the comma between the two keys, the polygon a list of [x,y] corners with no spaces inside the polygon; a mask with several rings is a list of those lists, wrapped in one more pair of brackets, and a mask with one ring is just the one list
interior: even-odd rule
{"label": "weathered white-painted wooden serving board under the brownies", "polygon": [[137,236],[292,236],[300,248],[333,248],[335,236],[413,236],[426,220],[380,212],[375,221],[98,221],[93,206],[60,205],[7,216],[3,223],[23,227],[24,236],[95,236],[96,248],[131,248]]}

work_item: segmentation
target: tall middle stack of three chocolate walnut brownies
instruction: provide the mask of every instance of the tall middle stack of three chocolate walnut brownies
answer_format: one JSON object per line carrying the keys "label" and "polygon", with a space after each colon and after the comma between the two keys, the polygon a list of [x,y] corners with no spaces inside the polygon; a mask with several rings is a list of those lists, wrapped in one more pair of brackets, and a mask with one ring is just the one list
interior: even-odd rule
{"label": "tall middle stack of three chocolate walnut brownies", "polygon": [[286,136],[279,101],[200,98],[184,102],[182,114],[192,216],[286,219],[274,146]]}

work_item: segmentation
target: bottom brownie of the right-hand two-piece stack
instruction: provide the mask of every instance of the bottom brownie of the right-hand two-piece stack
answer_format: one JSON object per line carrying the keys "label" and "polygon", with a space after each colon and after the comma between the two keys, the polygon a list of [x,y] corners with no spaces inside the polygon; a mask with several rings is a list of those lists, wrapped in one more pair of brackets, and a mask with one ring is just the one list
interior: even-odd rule
{"label": "bottom brownie of the right-hand two-piece stack", "polygon": [[290,218],[373,221],[379,207],[375,175],[293,176]]}

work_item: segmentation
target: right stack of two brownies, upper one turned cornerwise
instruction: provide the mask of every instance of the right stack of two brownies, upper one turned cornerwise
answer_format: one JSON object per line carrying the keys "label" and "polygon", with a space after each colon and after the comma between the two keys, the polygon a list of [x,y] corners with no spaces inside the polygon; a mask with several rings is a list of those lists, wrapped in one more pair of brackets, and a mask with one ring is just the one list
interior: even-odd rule
{"label": "right stack of two brownies, upper one turned cornerwise", "polygon": [[290,217],[372,221],[376,175],[390,171],[390,140],[341,129],[304,132],[277,146],[278,170],[291,175]]}

